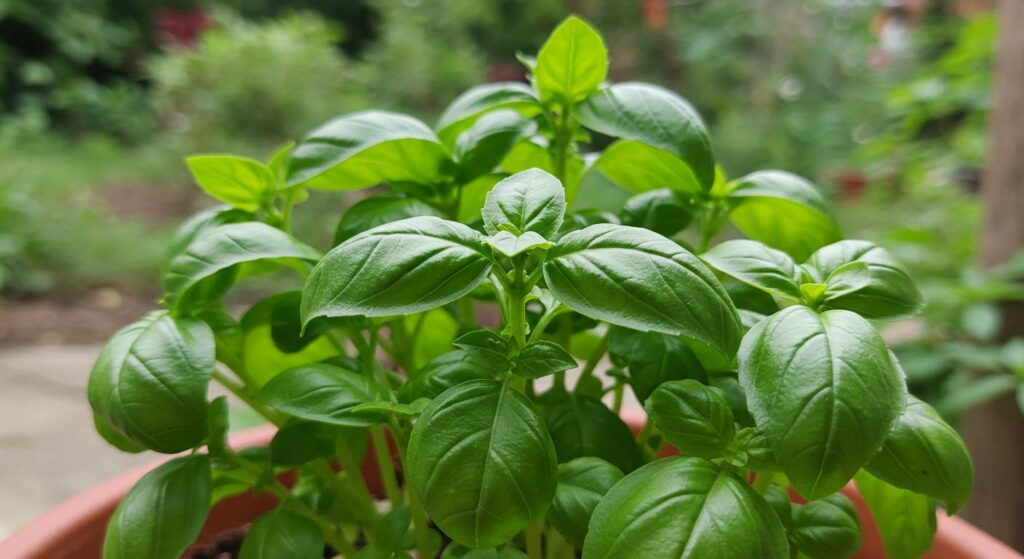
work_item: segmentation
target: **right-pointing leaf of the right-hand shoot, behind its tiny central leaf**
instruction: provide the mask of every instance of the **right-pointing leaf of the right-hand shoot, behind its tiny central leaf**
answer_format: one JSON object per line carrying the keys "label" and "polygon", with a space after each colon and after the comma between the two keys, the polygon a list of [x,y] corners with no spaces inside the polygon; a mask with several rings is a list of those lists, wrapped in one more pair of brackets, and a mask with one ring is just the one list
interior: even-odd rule
{"label": "right-pointing leaf of the right-hand shoot, behind its tiny central leaf", "polygon": [[887,250],[867,241],[841,241],[822,247],[811,255],[804,269],[814,282],[831,285],[835,274],[850,263],[867,266],[867,280],[857,289],[826,295],[830,308],[845,308],[868,318],[909,316],[924,306],[924,297],[918,291],[906,269]]}

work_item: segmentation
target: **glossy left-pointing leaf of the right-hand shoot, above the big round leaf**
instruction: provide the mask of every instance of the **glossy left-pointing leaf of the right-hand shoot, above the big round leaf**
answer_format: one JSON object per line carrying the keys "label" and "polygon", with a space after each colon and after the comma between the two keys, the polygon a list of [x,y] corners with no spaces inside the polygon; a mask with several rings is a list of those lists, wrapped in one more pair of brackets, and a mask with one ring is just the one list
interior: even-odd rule
{"label": "glossy left-pointing leaf of the right-hand shoot, above the big round leaf", "polygon": [[800,300],[800,271],[784,252],[757,241],[726,241],[700,255],[718,271],[772,295]]}

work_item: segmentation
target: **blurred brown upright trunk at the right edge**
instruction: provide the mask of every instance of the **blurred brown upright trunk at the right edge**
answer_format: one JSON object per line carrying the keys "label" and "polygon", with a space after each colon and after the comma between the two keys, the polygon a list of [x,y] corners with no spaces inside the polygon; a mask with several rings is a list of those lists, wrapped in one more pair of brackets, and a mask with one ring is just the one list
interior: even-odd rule
{"label": "blurred brown upright trunk at the right edge", "polygon": [[[989,158],[983,181],[981,264],[996,266],[1024,248],[1024,1],[999,7]],[[1002,336],[1024,335],[1024,305],[1002,309]],[[975,463],[965,516],[1024,551],[1024,416],[1013,396],[970,412],[964,431]]]}

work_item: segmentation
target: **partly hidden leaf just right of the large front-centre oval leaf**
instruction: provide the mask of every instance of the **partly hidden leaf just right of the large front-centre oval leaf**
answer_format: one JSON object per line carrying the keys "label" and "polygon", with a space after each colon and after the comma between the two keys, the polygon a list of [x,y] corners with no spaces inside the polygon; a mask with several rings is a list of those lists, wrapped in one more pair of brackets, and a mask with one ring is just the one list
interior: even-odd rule
{"label": "partly hidden leaf just right of the large front-centre oval leaf", "polygon": [[551,525],[574,546],[583,547],[590,517],[601,499],[623,478],[623,472],[594,457],[558,465],[558,488],[548,511]]}

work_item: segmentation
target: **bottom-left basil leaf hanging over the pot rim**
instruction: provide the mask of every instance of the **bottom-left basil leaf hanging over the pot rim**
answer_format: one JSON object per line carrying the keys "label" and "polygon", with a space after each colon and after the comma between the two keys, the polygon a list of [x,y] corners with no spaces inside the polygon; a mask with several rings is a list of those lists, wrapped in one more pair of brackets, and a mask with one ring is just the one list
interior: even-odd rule
{"label": "bottom-left basil leaf hanging over the pot rim", "polygon": [[210,512],[210,458],[174,459],[142,476],[106,525],[103,559],[178,559]]}

